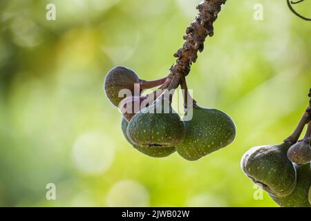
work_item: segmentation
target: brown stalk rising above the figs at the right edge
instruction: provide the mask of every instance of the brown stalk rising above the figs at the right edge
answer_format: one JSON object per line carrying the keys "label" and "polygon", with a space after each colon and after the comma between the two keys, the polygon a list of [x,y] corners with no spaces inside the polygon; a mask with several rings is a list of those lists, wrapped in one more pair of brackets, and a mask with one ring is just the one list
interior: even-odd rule
{"label": "brown stalk rising above the figs at the right edge", "polygon": [[[311,97],[311,88],[308,94],[308,97]],[[299,137],[303,131],[303,128],[305,127],[305,124],[308,124],[308,122],[310,122],[311,119],[311,98],[309,101],[309,106],[308,108],[305,110],[305,113],[303,113],[303,116],[300,119],[299,124],[296,126],[294,132],[292,133],[292,135],[290,135],[288,138],[286,138],[284,141],[285,142],[291,142],[291,143],[296,143],[297,140],[299,140]]]}

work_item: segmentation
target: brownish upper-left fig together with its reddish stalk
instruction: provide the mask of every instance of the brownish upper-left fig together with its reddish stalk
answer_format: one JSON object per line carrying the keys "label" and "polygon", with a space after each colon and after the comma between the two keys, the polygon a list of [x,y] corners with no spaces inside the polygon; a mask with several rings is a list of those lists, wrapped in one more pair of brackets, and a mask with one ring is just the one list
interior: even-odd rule
{"label": "brownish upper-left fig together with its reddish stalk", "polygon": [[135,95],[135,84],[138,84],[138,95],[143,89],[153,88],[164,83],[167,78],[158,79],[155,81],[144,81],[131,70],[123,66],[117,66],[106,75],[104,82],[104,90],[106,96],[115,106],[119,106],[124,97],[119,97],[120,90],[128,89],[131,95]]}

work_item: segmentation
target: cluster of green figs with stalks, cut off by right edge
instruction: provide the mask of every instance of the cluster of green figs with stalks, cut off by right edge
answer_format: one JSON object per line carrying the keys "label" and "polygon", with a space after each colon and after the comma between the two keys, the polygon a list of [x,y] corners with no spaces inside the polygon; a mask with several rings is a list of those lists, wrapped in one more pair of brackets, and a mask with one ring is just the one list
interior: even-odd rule
{"label": "cluster of green figs with stalks, cut off by right edge", "polygon": [[[244,173],[283,207],[311,207],[310,111],[309,107],[282,144],[256,146],[241,160]],[[305,136],[299,140],[306,124]]]}

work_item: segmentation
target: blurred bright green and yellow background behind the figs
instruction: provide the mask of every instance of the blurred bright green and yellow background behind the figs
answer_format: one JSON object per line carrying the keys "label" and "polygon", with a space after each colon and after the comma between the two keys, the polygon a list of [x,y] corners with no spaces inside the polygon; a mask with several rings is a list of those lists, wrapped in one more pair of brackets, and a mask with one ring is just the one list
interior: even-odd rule
{"label": "blurred bright green and yellow background behind the figs", "polygon": [[[311,23],[285,0],[228,0],[189,74],[198,104],[234,119],[227,148],[198,162],[142,155],[104,95],[113,66],[167,75],[199,2],[0,1],[0,206],[276,206],[254,199],[240,160],[281,143],[307,106]],[[295,7],[311,17],[311,1]]]}

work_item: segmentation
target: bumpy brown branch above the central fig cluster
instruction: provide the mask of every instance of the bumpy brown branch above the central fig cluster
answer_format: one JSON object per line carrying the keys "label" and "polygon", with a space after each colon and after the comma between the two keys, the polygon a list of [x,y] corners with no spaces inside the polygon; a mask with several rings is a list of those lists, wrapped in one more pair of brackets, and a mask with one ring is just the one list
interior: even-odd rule
{"label": "bumpy brown branch above the central fig cluster", "polygon": [[202,52],[204,48],[206,37],[214,35],[213,23],[226,1],[205,0],[197,6],[198,15],[186,30],[185,44],[174,55],[178,59],[171,68],[171,73],[180,73],[183,76],[189,74],[191,64],[198,58],[198,51]]}

